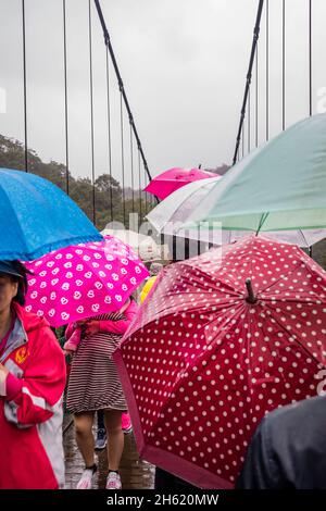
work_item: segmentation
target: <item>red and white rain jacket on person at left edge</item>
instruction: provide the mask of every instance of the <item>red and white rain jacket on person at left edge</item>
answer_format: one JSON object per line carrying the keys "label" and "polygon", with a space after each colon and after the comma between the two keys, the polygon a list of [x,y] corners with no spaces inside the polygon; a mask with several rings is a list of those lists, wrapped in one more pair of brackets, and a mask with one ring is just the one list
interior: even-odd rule
{"label": "red and white rain jacket on person at left edge", "polygon": [[46,320],[14,309],[0,358],[0,489],[63,488],[64,356]]}

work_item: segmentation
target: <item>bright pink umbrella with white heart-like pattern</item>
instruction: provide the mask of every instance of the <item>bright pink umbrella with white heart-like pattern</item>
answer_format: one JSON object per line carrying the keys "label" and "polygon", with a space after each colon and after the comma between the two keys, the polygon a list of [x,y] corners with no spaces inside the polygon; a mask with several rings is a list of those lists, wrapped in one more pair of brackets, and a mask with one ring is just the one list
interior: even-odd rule
{"label": "bright pink umbrella with white heart-like pattern", "polygon": [[26,310],[55,327],[118,310],[149,275],[130,247],[112,236],[54,250],[25,264],[34,273]]}

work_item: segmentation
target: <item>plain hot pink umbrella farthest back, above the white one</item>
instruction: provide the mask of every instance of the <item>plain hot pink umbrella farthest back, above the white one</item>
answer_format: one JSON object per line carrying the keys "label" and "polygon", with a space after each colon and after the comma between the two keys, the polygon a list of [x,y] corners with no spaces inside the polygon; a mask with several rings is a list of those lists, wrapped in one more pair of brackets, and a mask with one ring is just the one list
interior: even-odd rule
{"label": "plain hot pink umbrella farthest back, above the white one", "polygon": [[181,188],[181,186],[185,186],[188,183],[216,176],[218,176],[218,174],[202,171],[201,169],[170,169],[154,177],[150,184],[147,185],[145,191],[149,191],[163,200],[165,197],[170,196],[170,194]]}

